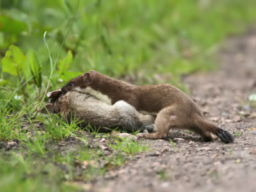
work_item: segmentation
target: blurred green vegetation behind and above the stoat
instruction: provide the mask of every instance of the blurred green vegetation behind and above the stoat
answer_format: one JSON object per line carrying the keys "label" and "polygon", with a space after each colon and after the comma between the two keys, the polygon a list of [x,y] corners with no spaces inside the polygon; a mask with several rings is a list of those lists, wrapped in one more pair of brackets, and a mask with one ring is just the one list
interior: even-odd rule
{"label": "blurred green vegetation behind and above the stoat", "polygon": [[255,5],[255,0],[1,0],[0,98],[40,98],[49,79],[50,89],[60,88],[88,70],[136,84],[180,86],[182,75],[218,66],[213,56],[223,38],[256,21]]}

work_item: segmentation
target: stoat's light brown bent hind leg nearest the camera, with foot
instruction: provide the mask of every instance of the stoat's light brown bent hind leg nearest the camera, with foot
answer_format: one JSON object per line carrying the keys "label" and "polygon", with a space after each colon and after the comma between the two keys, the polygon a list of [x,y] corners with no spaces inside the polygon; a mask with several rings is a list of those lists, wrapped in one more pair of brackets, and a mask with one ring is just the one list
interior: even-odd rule
{"label": "stoat's light brown bent hind leg nearest the camera, with foot", "polygon": [[179,127],[179,115],[175,113],[174,107],[170,106],[162,109],[155,121],[157,132],[138,134],[139,138],[163,139],[168,136],[171,128]]}

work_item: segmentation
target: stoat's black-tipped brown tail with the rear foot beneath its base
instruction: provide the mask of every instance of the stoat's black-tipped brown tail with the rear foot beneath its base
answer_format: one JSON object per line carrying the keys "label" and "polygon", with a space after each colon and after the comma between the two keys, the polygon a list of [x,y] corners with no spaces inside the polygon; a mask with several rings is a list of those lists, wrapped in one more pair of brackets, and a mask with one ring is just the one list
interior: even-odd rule
{"label": "stoat's black-tipped brown tail with the rear foot beneath its base", "polygon": [[211,122],[208,122],[207,120],[205,120],[205,118],[198,118],[198,120],[196,121],[196,127],[199,128],[196,131],[201,134],[205,140],[211,141],[212,133],[218,136],[224,143],[232,143],[234,141],[234,138],[232,134],[230,134],[230,132],[217,127]]}

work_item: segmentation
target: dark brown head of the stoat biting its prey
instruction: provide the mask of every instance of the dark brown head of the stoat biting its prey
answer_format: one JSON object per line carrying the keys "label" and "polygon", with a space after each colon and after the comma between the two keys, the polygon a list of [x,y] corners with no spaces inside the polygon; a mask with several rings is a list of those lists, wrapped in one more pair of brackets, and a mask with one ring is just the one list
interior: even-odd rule
{"label": "dark brown head of the stoat biting its prey", "polygon": [[65,86],[61,88],[61,92],[67,93],[74,90],[75,88],[84,89],[90,86],[90,84],[93,82],[92,72],[94,71],[86,72],[80,76],[75,77],[74,79],[71,79]]}

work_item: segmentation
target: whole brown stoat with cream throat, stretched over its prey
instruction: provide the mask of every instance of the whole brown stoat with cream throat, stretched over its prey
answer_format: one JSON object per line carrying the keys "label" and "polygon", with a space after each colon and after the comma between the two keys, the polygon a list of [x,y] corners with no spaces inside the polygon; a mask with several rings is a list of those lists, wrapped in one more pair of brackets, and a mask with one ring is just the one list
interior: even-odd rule
{"label": "whole brown stoat with cream throat, stretched over its prey", "polygon": [[141,137],[161,139],[168,136],[173,128],[190,129],[200,134],[205,141],[211,141],[211,134],[225,143],[231,143],[232,135],[207,121],[195,102],[184,92],[171,84],[135,86],[118,79],[90,71],[70,80],[61,91],[84,92],[115,104],[125,100],[137,111],[155,114],[157,132],[143,133]]}

